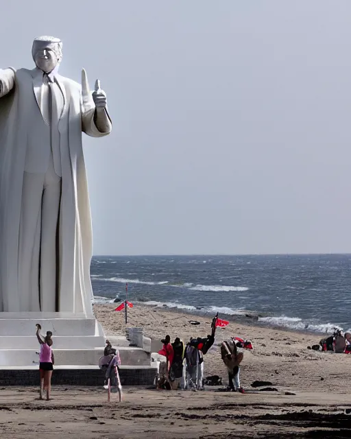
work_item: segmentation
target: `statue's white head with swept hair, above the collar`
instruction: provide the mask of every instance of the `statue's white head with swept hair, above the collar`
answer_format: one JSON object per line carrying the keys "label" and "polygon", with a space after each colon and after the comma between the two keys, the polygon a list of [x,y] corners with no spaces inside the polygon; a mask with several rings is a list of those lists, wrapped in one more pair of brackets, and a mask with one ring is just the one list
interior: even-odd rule
{"label": "statue's white head with swept hair, above the collar", "polygon": [[33,41],[32,56],[36,67],[50,73],[62,60],[62,42],[53,36],[38,36]]}

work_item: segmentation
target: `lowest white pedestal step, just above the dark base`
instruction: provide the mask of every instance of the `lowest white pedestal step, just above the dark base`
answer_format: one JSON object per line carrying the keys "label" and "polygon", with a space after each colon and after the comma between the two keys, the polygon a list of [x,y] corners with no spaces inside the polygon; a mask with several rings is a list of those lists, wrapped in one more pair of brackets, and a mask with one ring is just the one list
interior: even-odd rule
{"label": "lowest white pedestal step, just above the dark base", "polygon": [[[1,366],[33,366],[39,364],[36,349],[0,349]],[[97,366],[99,358],[104,355],[104,348],[90,349],[53,349],[55,365]],[[151,356],[142,348],[119,347],[123,366],[150,366]]]}

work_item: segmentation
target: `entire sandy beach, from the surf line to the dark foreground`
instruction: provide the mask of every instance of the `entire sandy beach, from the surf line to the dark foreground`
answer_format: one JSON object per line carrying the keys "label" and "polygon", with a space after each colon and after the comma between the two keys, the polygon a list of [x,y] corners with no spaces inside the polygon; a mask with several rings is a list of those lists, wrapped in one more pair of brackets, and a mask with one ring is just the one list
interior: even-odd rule
{"label": "entire sandy beach, from the surf line to the dark foreground", "polygon": [[[123,334],[123,313],[114,305],[95,305],[107,334]],[[222,316],[224,318],[224,316]],[[189,320],[197,320],[196,327]],[[205,336],[210,317],[136,305],[128,327],[143,327],[161,339],[167,333],[184,341]],[[230,321],[217,329],[215,345],[205,357],[205,376],[226,378],[216,347],[230,335],[252,340],[245,351],[241,384],[245,394],[125,388],[124,401],[100,388],[53,388],[53,400],[38,401],[36,388],[2,388],[0,425],[3,438],[347,438],[350,436],[351,355],[308,350],[322,335],[255,327],[252,319]],[[253,388],[269,381],[271,391]],[[226,381],[226,380],[223,380]]]}

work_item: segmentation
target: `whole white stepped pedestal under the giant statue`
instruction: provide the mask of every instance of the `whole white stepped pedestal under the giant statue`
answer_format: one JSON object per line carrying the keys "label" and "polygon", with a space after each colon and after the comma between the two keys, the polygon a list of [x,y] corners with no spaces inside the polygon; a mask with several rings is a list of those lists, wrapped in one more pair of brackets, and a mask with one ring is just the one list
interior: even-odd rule
{"label": "whole white stepped pedestal under the giant statue", "polygon": [[[86,318],[84,315],[73,313],[0,313],[0,382],[5,385],[4,377],[10,376],[10,371],[33,370],[37,373],[40,345],[36,338],[36,323],[42,327],[41,333],[53,333],[53,355],[55,370],[71,370],[75,381],[80,375],[80,385],[84,385],[84,375],[98,376],[99,358],[104,355],[106,338],[114,348],[119,349],[121,370],[125,370],[125,377],[134,383],[133,370],[143,370],[143,385],[146,381],[153,381],[157,372],[156,364],[152,364],[151,342],[144,337],[141,331],[130,330],[129,339],[123,336],[107,336],[95,318]],[[130,346],[132,344],[132,346]],[[73,372],[74,370],[74,372]],[[145,378],[149,374],[149,378]],[[13,373],[12,373],[13,375]],[[69,374],[68,374],[69,375]],[[127,379],[127,381],[128,381]],[[10,379],[10,381],[13,381]],[[88,378],[85,381],[89,381]],[[99,381],[99,380],[97,380]],[[91,382],[91,379],[90,381]],[[12,383],[13,384],[13,383]],[[90,384],[91,385],[91,384]],[[126,385],[126,384],[125,384]],[[128,385],[128,383],[127,383]]]}

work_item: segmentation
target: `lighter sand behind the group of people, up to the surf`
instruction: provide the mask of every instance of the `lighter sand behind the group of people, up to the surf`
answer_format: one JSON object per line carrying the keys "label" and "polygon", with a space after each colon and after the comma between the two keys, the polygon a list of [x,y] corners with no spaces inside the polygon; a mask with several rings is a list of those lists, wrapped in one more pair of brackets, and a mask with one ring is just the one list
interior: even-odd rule
{"label": "lighter sand behind the group of people, up to the surf", "polygon": [[[114,312],[114,308],[114,305],[95,305],[95,315],[106,333],[123,334],[124,313]],[[228,316],[219,317],[230,320]],[[193,326],[190,320],[197,320],[200,324]],[[206,337],[210,333],[210,323],[210,317],[191,316],[165,307],[137,305],[128,310],[128,327],[143,327],[146,335],[157,340],[167,334],[171,340],[180,337],[185,342],[190,337]],[[351,355],[312,351],[308,346],[319,344],[323,334],[258,327],[252,318],[247,318],[247,324],[231,320],[227,327],[217,329],[215,344],[205,356],[205,376],[219,375],[226,381],[219,344],[230,336],[252,340],[254,346],[252,351],[245,351],[241,364],[244,388],[250,388],[253,381],[260,380],[300,392],[351,393],[348,379]]]}

